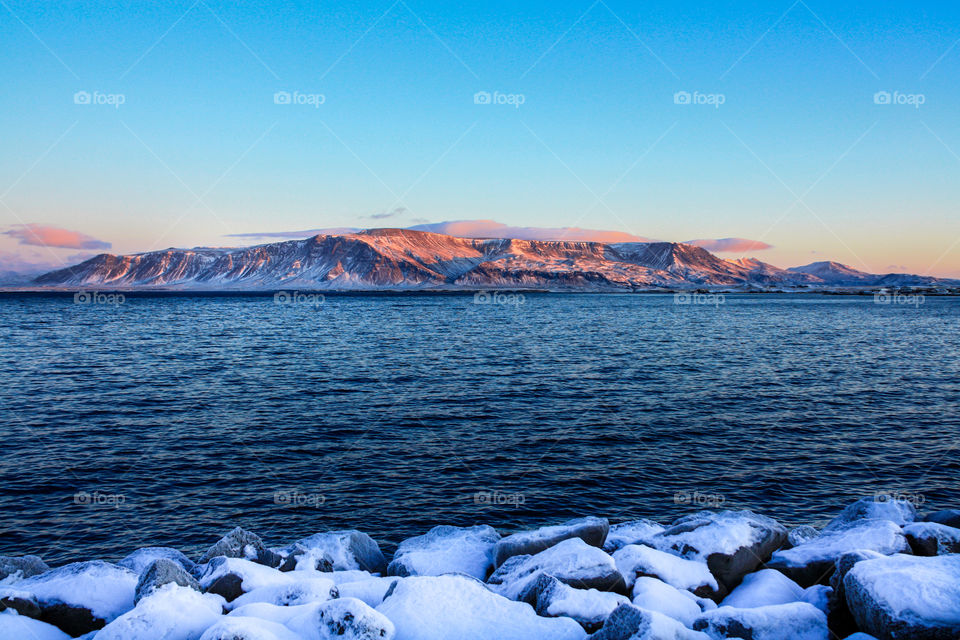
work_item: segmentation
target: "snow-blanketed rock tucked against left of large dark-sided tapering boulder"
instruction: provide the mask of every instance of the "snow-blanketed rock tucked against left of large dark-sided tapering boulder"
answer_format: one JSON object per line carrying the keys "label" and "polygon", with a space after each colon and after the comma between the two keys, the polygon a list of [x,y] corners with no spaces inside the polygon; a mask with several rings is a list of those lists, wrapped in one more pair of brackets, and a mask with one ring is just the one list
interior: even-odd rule
{"label": "snow-blanketed rock tucked against left of large dark-sided tapering boulder", "polygon": [[719,585],[705,562],[680,556],[641,544],[628,544],[615,551],[613,560],[623,575],[628,589],[640,576],[658,578],[677,589],[709,598],[717,594]]}

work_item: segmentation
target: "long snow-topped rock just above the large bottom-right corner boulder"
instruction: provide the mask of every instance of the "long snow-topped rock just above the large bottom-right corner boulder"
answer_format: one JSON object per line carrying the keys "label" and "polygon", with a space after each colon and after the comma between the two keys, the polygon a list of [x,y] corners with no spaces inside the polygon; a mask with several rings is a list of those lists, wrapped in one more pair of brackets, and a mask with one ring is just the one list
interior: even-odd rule
{"label": "long snow-topped rock just above the large bottom-right corner boulder", "polygon": [[875,551],[891,555],[910,545],[900,526],[891,520],[862,519],[824,533],[792,549],[773,554],[767,567],[781,571],[802,587],[824,582],[837,559],[850,551]]}

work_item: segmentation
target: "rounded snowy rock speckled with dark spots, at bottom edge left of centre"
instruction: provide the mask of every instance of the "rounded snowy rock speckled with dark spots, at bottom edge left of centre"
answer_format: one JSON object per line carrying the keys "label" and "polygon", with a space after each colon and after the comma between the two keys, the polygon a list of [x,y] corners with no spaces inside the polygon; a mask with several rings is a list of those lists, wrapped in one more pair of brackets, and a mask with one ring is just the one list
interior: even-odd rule
{"label": "rounded snowy rock speckled with dark spots, at bottom edge left of centre", "polygon": [[308,607],[286,626],[303,640],[393,640],[393,623],[356,598],[338,598]]}

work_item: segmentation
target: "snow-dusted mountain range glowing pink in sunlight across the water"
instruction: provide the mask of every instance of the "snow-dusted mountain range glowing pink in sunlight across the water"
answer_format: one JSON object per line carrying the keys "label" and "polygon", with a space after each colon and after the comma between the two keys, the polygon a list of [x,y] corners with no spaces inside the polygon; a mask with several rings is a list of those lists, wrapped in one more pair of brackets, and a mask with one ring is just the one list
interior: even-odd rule
{"label": "snow-dusted mountain range glowing pink in sunlight across the water", "polygon": [[[34,280],[46,287],[331,290],[529,288],[634,291],[657,288],[884,284],[828,263],[780,269],[723,260],[673,242],[471,239],[371,229],[239,249],[166,249],[101,254]],[[843,274],[850,273],[849,277]],[[913,278],[930,284],[936,278]],[[892,284],[892,283],[891,283]]]}

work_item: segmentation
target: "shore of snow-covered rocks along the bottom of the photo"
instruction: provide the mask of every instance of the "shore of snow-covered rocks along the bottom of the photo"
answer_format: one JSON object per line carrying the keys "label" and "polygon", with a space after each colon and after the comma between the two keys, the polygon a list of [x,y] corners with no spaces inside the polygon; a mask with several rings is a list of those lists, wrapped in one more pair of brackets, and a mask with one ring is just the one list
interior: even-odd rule
{"label": "shore of snow-covered rocks along the bottom of the photo", "polygon": [[960,510],[851,504],[822,529],[749,511],[587,517],[501,537],[434,527],[271,548],[237,528],[50,568],[0,557],[0,640],[960,638]]}

